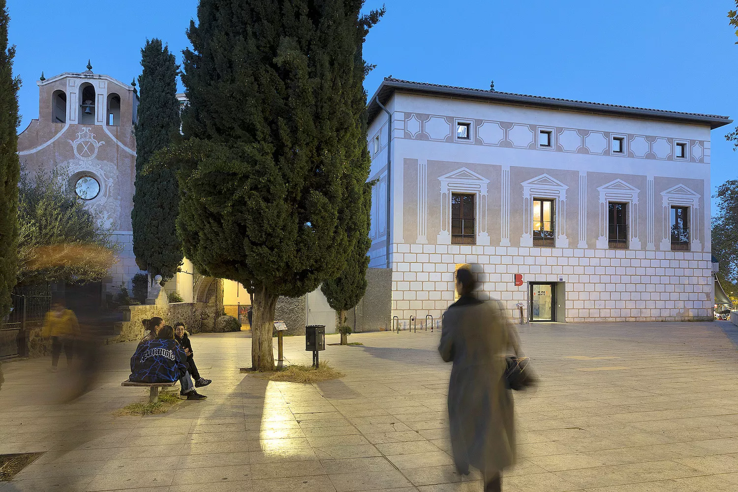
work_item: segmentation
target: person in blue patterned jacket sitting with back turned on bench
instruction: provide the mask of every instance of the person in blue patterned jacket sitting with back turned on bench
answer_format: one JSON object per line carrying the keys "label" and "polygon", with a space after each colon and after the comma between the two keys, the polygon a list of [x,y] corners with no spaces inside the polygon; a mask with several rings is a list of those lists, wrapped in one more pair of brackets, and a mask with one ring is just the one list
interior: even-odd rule
{"label": "person in blue patterned jacket sitting with back turned on bench", "polygon": [[141,342],[131,357],[131,375],[128,381],[135,383],[172,383],[179,379],[182,389],[179,395],[187,400],[204,400],[205,395],[195,391],[190,378],[187,356],[174,339],[169,325],[159,328],[156,339]]}

